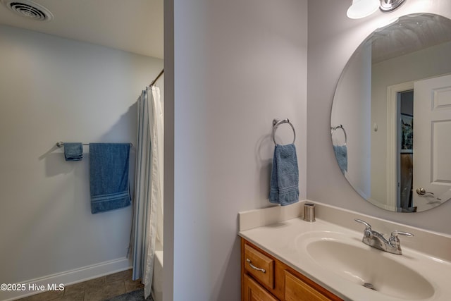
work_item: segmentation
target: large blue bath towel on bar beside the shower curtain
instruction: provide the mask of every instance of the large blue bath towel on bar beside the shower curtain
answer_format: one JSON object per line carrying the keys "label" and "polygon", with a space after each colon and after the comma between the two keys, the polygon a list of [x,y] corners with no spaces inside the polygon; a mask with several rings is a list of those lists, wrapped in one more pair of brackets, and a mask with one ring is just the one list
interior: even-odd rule
{"label": "large blue bath towel on bar beside the shower curtain", "polygon": [[89,143],[91,213],[127,207],[130,202],[129,143]]}

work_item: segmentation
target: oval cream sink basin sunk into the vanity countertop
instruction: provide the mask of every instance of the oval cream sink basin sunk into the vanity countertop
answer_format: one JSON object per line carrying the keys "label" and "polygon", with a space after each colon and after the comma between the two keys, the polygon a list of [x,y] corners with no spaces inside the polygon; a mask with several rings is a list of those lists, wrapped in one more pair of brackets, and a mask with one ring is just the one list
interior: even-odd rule
{"label": "oval cream sink basin sunk into the vanity countertop", "polygon": [[424,300],[435,293],[426,278],[402,262],[403,255],[369,247],[345,233],[305,233],[296,246],[321,268],[383,295]]}

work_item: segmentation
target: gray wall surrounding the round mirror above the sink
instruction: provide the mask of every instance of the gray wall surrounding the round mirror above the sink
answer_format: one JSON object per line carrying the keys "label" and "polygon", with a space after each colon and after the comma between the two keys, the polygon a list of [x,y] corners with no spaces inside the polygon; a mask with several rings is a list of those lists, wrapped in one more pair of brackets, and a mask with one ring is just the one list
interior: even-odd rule
{"label": "gray wall surrounding the round mirror above the sink", "polygon": [[360,42],[376,27],[396,16],[430,12],[451,17],[450,1],[409,0],[390,14],[374,13],[368,18],[346,17],[350,1],[309,1],[307,80],[307,197],[399,221],[411,226],[451,234],[451,203],[416,214],[399,214],[365,202],[347,183],[336,164],[330,143],[330,110],[338,78]]}

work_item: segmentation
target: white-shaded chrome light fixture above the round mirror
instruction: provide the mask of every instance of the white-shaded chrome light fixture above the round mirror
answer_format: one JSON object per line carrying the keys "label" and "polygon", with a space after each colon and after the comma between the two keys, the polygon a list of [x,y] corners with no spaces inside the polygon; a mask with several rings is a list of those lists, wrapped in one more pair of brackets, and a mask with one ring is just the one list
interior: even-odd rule
{"label": "white-shaded chrome light fixture above the round mirror", "polygon": [[404,4],[406,0],[352,0],[352,5],[347,9],[346,15],[351,19],[365,18],[375,13],[378,8],[383,13],[390,13]]}

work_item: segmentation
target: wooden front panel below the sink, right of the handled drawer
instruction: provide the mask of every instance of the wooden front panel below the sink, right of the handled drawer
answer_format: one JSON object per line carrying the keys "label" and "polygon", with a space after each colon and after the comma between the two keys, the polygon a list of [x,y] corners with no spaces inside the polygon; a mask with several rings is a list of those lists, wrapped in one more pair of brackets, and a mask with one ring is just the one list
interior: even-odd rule
{"label": "wooden front panel below the sink, right of the handled drawer", "polygon": [[285,270],[285,300],[286,301],[330,301],[301,279]]}

